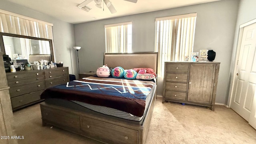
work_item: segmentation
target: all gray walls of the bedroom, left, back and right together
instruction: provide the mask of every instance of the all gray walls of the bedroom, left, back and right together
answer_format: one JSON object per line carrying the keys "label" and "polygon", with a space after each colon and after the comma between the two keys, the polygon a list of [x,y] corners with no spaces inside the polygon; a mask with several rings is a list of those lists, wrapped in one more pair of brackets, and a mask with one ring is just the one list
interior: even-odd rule
{"label": "all gray walls of the bedroom, left, back and right together", "polygon": [[[216,52],[215,61],[221,62],[216,102],[228,105],[236,58],[238,28],[240,24],[256,18],[255,0],[241,0],[240,5],[239,2],[240,0],[221,0],[75,24],[74,27],[73,24],[5,0],[1,0],[0,9],[53,23],[56,60],[63,61],[64,66],[69,67],[70,74],[76,74],[76,76],[77,57],[73,46],[82,47],[78,52],[80,72],[96,71],[102,65],[105,52],[104,25],[132,21],[133,51],[154,51],[155,18],[197,12],[194,51],[213,49]],[[162,95],[162,78],[158,78],[158,95]]]}

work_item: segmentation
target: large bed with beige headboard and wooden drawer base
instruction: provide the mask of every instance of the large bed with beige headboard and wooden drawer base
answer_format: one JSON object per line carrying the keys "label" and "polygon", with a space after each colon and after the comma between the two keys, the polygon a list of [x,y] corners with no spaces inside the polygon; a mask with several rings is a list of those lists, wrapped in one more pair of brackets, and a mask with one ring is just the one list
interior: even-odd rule
{"label": "large bed with beige headboard and wooden drawer base", "polygon": [[[110,68],[121,66],[126,70],[132,68],[151,68],[154,72],[157,72],[158,53],[105,53],[103,64],[107,64]],[[156,79],[136,81],[138,85],[145,85],[143,92],[138,93],[145,93],[147,95],[145,102],[141,100],[135,102],[138,107],[133,107],[132,103],[126,101],[123,101],[121,104],[115,104],[115,99],[110,101],[106,100],[103,106],[98,106],[98,103],[104,101],[104,99],[98,100],[96,102],[97,104],[92,101],[91,98],[99,97],[102,94],[108,95],[106,91],[102,93],[86,94],[89,97],[83,99],[80,97],[78,98],[79,100],[74,99],[77,97],[76,94],[87,93],[86,88],[83,90],[80,89],[82,85],[86,87],[85,85],[90,83],[90,89],[94,89],[92,86],[92,84],[94,84],[93,82],[105,86],[107,85],[107,82],[105,82],[106,79],[107,81],[115,83],[111,83],[112,85],[116,85],[116,83],[124,84],[124,80],[122,79],[91,76],[68,82],[66,84],[66,90],[56,90],[56,93],[54,93],[53,88],[53,91],[46,89],[46,94],[43,94],[45,101],[40,103],[42,125],[46,126],[49,124],[56,126],[108,144],[144,144],[156,100]],[[129,86],[134,83],[133,80],[125,81]],[[68,94],[63,93],[63,91],[74,91],[78,88],[76,86],[80,86],[79,92],[70,93],[71,98]],[[134,86],[134,88],[135,87],[136,86]],[[64,98],[60,99],[58,96]],[[144,109],[139,108],[140,103],[144,106]],[[127,106],[130,106],[130,111],[129,109],[123,109]],[[106,108],[108,108],[108,110],[106,110]],[[134,112],[134,109],[138,111]]]}

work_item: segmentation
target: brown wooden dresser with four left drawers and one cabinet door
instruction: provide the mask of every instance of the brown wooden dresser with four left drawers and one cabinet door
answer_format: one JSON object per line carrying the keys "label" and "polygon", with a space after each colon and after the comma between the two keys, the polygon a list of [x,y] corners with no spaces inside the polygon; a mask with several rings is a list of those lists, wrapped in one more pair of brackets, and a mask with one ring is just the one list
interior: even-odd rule
{"label": "brown wooden dresser with four left drawers and one cabinet door", "polygon": [[210,107],[214,110],[219,62],[165,62],[165,100]]}

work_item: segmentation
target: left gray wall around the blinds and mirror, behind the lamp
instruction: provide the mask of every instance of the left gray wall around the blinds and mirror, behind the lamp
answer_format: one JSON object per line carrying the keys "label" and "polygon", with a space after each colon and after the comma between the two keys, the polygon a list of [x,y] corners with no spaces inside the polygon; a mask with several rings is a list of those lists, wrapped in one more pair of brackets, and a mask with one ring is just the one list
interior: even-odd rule
{"label": "left gray wall around the blinds and mirror, behind the lamp", "polygon": [[56,61],[63,61],[63,65],[69,67],[69,73],[77,75],[76,53],[73,49],[73,46],[75,46],[73,24],[5,0],[1,0],[0,9],[52,23]]}

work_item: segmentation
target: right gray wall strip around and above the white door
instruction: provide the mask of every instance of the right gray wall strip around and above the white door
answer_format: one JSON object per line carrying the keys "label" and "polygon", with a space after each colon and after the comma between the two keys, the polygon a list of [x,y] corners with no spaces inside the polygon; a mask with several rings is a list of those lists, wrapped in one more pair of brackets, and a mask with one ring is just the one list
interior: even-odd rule
{"label": "right gray wall strip around and above the white door", "polygon": [[239,36],[239,26],[246,22],[256,19],[256,0],[241,0],[238,10],[238,16],[236,21],[236,29],[235,29],[235,36],[234,36],[234,45],[231,57],[231,67],[230,67],[230,76],[229,76],[229,87],[228,87],[228,94],[226,97],[225,103],[230,102],[230,95],[232,89],[232,82],[234,76],[234,66],[236,64],[236,53],[237,53],[237,46],[238,46],[238,36]]}

